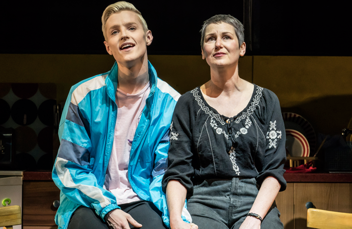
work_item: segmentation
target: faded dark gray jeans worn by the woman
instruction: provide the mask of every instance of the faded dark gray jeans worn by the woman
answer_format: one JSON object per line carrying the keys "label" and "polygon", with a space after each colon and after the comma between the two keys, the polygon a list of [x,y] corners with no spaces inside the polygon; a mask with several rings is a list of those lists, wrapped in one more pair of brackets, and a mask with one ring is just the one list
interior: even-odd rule
{"label": "faded dark gray jeans worn by the woman", "polygon": [[[255,178],[205,180],[194,187],[194,194],[187,201],[187,209],[200,229],[237,229],[246,218],[257,194]],[[260,228],[283,229],[279,217],[280,212],[274,201]]]}

